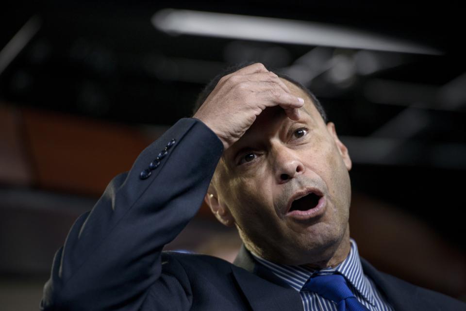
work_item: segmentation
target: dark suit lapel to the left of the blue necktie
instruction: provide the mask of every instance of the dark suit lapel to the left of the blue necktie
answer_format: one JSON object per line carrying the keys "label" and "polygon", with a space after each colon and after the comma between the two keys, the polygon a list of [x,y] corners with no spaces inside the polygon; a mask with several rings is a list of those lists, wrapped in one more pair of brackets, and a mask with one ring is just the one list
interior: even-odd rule
{"label": "dark suit lapel to the left of the blue necktie", "polygon": [[256,264],[244,246],[233,262],[233,276],[254,311],[302,311],[300,294]]}

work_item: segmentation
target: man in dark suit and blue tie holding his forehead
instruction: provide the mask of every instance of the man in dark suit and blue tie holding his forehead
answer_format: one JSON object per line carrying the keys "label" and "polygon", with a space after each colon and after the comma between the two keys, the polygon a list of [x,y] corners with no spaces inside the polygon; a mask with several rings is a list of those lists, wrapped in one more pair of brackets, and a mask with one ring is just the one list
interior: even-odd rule
{"label": "man in dark suit and blue tie holding his forehead", "polygon": [[[359,259],[349,152],[312,94],[261,64],[211,85],[77,219],[42,310],[466,310]],[[204,196],[235,265],[162,252]]]}

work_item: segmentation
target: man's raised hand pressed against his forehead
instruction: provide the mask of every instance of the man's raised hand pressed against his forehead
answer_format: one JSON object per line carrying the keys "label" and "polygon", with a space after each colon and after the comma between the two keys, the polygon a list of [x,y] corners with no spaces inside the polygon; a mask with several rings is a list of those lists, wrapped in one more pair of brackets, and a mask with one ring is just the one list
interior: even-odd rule
{"label": "man's raised hand pressed against his forehead", "polygon": [[281,106],[297,120],[303,103],[276,74],[257,63],[221,78],[194,117],[217,134],[226,150],[267,107]]}

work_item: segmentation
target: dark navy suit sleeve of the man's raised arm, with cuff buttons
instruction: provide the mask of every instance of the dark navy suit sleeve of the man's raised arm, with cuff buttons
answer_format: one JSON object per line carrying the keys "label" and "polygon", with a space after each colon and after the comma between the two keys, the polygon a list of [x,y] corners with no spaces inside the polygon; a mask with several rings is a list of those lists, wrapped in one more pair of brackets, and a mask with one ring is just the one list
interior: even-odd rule
{"label": "dark navy suit sleeve of the man's raised arm, with cuff buttons", "polygon": [[[164,245],[198,212],[222,151],[216,134],[194,118],[147,147],[70,229],[41,310],[138,310],[160,278]],[[150,176],[142,179],[146,169]]]}

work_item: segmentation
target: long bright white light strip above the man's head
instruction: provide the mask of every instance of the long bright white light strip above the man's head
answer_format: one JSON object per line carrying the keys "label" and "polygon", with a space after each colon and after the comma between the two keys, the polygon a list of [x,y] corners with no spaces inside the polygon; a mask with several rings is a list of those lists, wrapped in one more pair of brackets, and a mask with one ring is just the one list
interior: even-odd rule
{"label": "long bright white light strip above the man's head", "polygon": [[152,24],[158,30],[172,34],[416,54],[442,54],[437,49],[400,39],[301,20],[163,9],[152,16]]}

